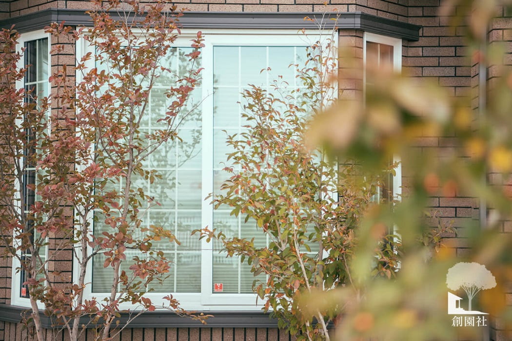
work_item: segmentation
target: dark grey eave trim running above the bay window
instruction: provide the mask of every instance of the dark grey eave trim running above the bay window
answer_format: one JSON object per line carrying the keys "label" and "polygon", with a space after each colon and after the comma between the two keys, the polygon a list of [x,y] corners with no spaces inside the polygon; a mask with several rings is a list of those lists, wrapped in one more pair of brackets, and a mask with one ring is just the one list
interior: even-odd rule
{"label": "dark grey eave trim running above the bay window", "polygon": [[[185,12],[180,18],[184,28],[192,29],[315,29],[316,24],[304,17],[314,18],[319,13],[285,12]],[[334,25],[334,20],[324,19],[326,26]],[[0,20],[0,28],[15,25],[19,32],[42,29],[51,22],[66,21],[67,25],[90,25],[91,18],[84,10],[49,8],[39,12]],[[336,26],[339,29],[362,30],[405,40],[417,41],[421,26],[398,20],[378,17],[362,12],[344,12]]]}

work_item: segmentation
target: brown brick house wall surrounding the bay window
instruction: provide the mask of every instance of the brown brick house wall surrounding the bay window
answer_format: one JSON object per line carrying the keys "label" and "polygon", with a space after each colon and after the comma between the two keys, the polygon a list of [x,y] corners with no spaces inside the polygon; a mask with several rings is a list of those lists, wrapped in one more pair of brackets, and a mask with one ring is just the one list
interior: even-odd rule
{"label": "brown brick house wall surrounding the bay window", "polygon": [[[416,42],[403,42],[402,65],[404,72],[412,77],[428,78],[444,86],[451,95],[471,96],[473,109],[478,110],[478,76],[479,64],[467,56],[464,48],[463,28],[450,28],[448,18],[437,16],[439,0],[329,0],[327,6],[323,0],[179,0],[179,7],[191,11],[219,12],[324,12],[339,10],[342,12],[361,11],[368,14],[421,25],[420,39]],[[16,17],[33,13],[47,8],[89,9],[87,1],[72,0],[16,0],[0,2],[0,19]],[[489,31],[489,40],[505,40],[512,46],[512,24],[510,20],[497,20]],[[353,51],[355,59],[362,64],[362,37],[359,30],[342,30],[339,34],[340,46],[348,46]],[[52,41],[52,44],[59,43]],[[505,60],[512,64],[512,49],[507,50]],[[74,55],[69,50],[52,57],[52,67],[55,69],[63,64],[73,65]],[[362,94],[361,78],[343,79],[343,74],[351,74],[344,70],[340,63],[342,80],[340,87],[344,90],[342,97],[357,98]],[[492,69],[488,79],[492,81]],[[54,89],[55,91],[55,89]],[[457,146],[454,135],[436,136],[424,132],[416,141],[416,147],[427,152],[433,148],[442,153],[450,154]],[[495,174],[489,174],[492,184],[512,189],[512,179],[503,179]],[[403,172],[403,192],[407,195],[410,185],[407,167]],[[512,190],[510,190],[512,192]],[[447,235],[451,252],[459,257],[467,255],[470,245],[465,237],[465,226],[474,222],[479,216],[479,201],[466,196],[463,191],[444,191],[430,199],[430,209],[444,224],[452,224],[456,234]],[[431,220],[437,225],[437,219]],[[504,222],[503,232],[512,232],[512,222]],[[71,276],[72,262],[68,254],[61,254],[53,266],[63,275],[56,282],[66,285]],[[0,303],[10,303],[11,264],[8,259],[0,259]],[[68,282],[69,283],[69,282]],[[512,290],[507,291],[506,299],[512,301]],[[505,298],[504,298],[505,299]],[[4,325],[4,326],[3,326]],[[53,332],[53,331],[48,331]],[[25,333],[25,334],[24,334]],[[91,331],[92,333],[92,331]],[[28,335],[20,325],[0,322],[0,339],[24,339]],[[503,339],[505,331],[495,324],[492,339]],[[21,338],[20,338],[21,337]],[[61,336],[52,335],[52,339]],[[254,340],[288,340],[289,335],[276,328],[133,328],[122,332],[120,339],[190,339],[190,340],[221,340],[221,339],[254,339]],[[85,338],[84,338],[85,339]],[[89,338],[87,338],[89,339]]]}

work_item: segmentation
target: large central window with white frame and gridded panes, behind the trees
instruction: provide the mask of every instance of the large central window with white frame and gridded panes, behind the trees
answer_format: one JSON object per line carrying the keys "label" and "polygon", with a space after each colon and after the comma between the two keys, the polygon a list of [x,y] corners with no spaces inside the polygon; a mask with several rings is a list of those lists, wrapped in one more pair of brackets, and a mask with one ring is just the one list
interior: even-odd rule
{"label": "large central window with white frame and gridded panes, behind the trees", "polygon": [[[295,78],[295,67],[290,64],[305,63],[304,35],[296,31],[227,33],[219,30],[205,34],[205,47],[200,57],[201,67],[204,67],[201,86],[194,90],[193,98],[187,103],[189,108],[195,108],[193,114],[178,128],[182,141],[162,145],[146,160],[146,167],[158,170],[162,178],[152,184],[143,178],[136,179],[135,185],[161,203],[148,210],[143,225],[162,225],[181,243],[154,244],[173,264],[163,284],[152,284],[153,291],[147,295],[158,302],[172,293],[189,310],[261,309],[262,301],[257,305],[256,295],[251,290],[255,277],[250,266],[241,264],[238,258],[220,254],[219,244],[200,241],[197,235],[190,236],[190,233],[210,226],[226,235],[255,237],[259,245],[267,243],[263,234],[255,236],[254,222],[244,223],[243,218],[231,216],[231,209],[227,207],[214,210],[210,200],[205,198],[210,193],[219,193],[220,185],[228,178],[223,171],[228,165],[226,154],[230,152],[226,138],[227,134],[243,129],[240,115],[243,90],[249,84],[271,90],[273,80],[278,78],[290,89],[302,85],[301,80]],[[165,66],[177,77],[187,66],[183,56],[189,52],[188,39],[186,33],[180,37],[165,61]],[[82,42],[78,51],[83,54],[91,49]],[[156,121],[169,104],[165,89],[174,81],[167,76],[157,80],[150,95],[150,115],[141,123],[141,131],[157,127]],[[95,215],[98,218],[94,219],[96,234],[106,226],[102,213],[98,211]],[[131,265],[131,256],[137,256],[137,252],[126,252],[127,261],[122,265],[125,270]],[[88,286],[88,294],[97,298],[106,294],[112,285],[112,268],[103,268],[102,258],[95,256],[89,269],[92,285]],[[258,279],[265,281],[265,276],[260,275]]]}

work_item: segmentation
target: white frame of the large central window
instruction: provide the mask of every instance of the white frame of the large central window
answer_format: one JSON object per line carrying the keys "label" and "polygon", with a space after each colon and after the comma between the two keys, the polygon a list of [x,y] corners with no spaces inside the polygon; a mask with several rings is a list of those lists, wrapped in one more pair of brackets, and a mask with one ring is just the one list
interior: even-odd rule
{"label": "white frame of the large central window", "polygon": [[[205,152],[205,146],[209,147],[213,143],[213,50],[215,46],[307,46],[305,36],[302,32],[296,30],[203,30],[205,37],[205,47],[202,49],[201,62],[204,70],[202,72],[202,197],[205,198],[213,192],[213,154]],[[189,47],[190,39],[195,37],[196,31],[182,30],[182,34],[176,41],[177,47]],[[310,32],[310,37],[316,35]],[[84,39],[77,42],[77,59],[91,51]],[[94,67],[94,60],[90,60],[86,65]],[[77,82],[81,81],[81,75],[77,74]],[[212,226],[213,207],[210,200],[203,200],[201,207],[201,227]],[[176,292],[173,297],[180,301],[182,307],[187,310],[238,310],[238,311],[259,311],[263,307],[264,301],[258,300],[255,293],[214,293],[212,265],[213,265],[212,243],[207,243],[205,239],[201,242],[201,291],[196,293]],[[78,276],[78,264],[74,260],[73,277]],[[92,292],[92,266],[89,266],[86,272],[86,282],[89,285],[84,289],[84,297],[92,297],[101,300],[106,293]],[[162,296],[167,293],[151,292],[146,297],[152,299],[155,304],[162,302]],[[257,304],[258,302],[258,304]],[[165,303],[165,302],[163,302]],[[121,305],[120,309],[133,307],[129,304]]]}

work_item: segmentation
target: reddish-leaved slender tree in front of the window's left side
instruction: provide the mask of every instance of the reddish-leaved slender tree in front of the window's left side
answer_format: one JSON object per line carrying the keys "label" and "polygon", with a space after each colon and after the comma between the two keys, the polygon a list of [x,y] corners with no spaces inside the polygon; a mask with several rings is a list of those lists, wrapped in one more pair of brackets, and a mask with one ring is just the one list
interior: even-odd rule
{"label": "reddish-leaved slender tree in front of the window's left side", "polygon": [[[188,98],[200,82],[201,32],[175,73],[165,58],[179,36],[182,13],[176,6],[160,1],[141,5],[137,0],[94,4],[91,28],[74,30],[63,23],[47,28],[58,41],[52,54],[76,55],[80,39],[95,51],[51,75],[50,98],[16,89],[15,82],[26,72],[16,65],[22,55],[12,52],[18,33],[4,30],[0,35],[1,243],[26,274],[39,340],[44,335],[37,302],[72,340],[89,324],[99,327],[97,338],[114,337],[125,327],[111,328],[123,303],[138,310],[129,321],[155,310],[160,304],[145,293],[165,279],[170,267],[158,242],[178,243],[165,226],[144,223],[145,213],[159,205],[159,198],[145,193],[137,181],[161,178],[148,166],[148,157],[178,141],[178,126],[194,116]],[[143,129],[150,94],[159,81],[166,87],[163,109],[153,122],[156,128]],[[45,248],[46,258],[41,257]],[[127,257],[130,249],[137,255]],[[63,254],[78,264],[78,278],[72,282],[53,265]],[[108,297],[86,300],[83,292],[91,285],[86,270],[93,259],[111,271],[113,281]],[[172,296],[165,299],[166,308],[204,319],[181,309]],[[81,317],[86,316],[90,321],[83,324]]]}

